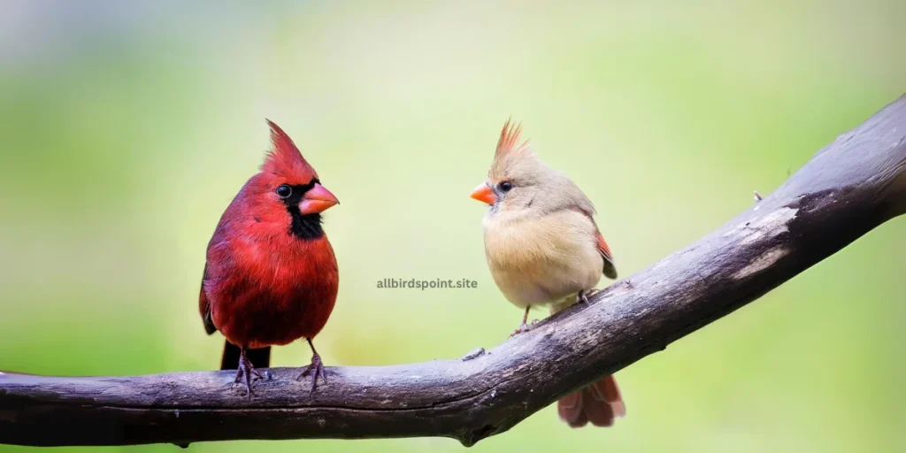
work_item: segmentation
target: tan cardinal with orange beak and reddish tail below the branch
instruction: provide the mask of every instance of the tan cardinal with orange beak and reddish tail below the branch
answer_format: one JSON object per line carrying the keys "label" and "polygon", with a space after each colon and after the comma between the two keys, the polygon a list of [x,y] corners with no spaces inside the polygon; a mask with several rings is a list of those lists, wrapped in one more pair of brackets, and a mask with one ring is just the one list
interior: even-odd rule
{"label": "tan cardinal with orange beak and reddish tail below the branch", "polygon": [[[490,205],[483,224],[494,282],[507,300],[525,308],[512,335],[531,329],[526,321],[533,306],[547,305],[553,314],[587,303],[602,274],[617,276],[592,202],[570,178],[538,159],[528,140],[520,144],[520,130],[506,121],[487,180],[471,195]],[[557,401],[557,411],[573,428],[589,421],[612,426],[626,413],[613,376]]]}

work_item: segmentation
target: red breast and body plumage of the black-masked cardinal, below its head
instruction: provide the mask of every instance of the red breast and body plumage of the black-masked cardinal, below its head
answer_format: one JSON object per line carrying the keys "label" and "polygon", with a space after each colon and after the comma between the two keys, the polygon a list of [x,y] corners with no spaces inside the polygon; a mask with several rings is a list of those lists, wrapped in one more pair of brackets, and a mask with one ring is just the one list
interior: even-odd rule
{"label": "red breast and body plumage of the black-masked cardinal, below its head", "polygon": [[208,245],[203,286],[211,320],[226,340],[246,348],[313,338],[336,301],[333,247],[327,236],[301,240],[287,233],[285,210],[264,216],[285,215],[283,223],[255,220],[252,213],[262,208],[252,204],[244,188]]}

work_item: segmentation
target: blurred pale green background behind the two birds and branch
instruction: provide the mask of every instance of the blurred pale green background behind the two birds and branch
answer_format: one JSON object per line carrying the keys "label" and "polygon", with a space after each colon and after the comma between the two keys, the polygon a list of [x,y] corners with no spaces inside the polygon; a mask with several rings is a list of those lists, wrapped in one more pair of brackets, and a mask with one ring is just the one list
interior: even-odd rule
{"label": "blurred pale green background behind the two birds and branch", "polygon": [[[342,278],[316,339],[324,361],[493,346],[520,313],[490,278],[485,207],[468,193],[510,114],[595,202],[630,275],[906,91],[904,19],[900,0],[5,1],[0,369],[215,368],[223,338],[205,335],[197,307],[205,248],[268,147],[265,118],[342,201],[325,216]],[[897,218],[619,372],[629,410],[615,428],[572,430],[547,408],[474,451],[903,451],[904,255]],[[385,277],[478,287],[376,288]],[[309,357],[300,343],[274,362]],[[377,448],[462,449],[390,439],[190,451]]]}

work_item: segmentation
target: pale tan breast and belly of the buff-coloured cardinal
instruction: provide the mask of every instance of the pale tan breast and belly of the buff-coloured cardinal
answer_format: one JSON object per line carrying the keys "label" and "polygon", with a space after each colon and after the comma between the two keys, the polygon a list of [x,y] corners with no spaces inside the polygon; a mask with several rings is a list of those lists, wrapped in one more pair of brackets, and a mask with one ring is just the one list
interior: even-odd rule
{"label": "pale tan breast and belly of the buff-coloured cardinal", "polygon": [[603,258],[592,221],[565,210],[543,217],[497,212],[485,217],[485,254],[500,291],[520,307],[551,304],[593,288]]}

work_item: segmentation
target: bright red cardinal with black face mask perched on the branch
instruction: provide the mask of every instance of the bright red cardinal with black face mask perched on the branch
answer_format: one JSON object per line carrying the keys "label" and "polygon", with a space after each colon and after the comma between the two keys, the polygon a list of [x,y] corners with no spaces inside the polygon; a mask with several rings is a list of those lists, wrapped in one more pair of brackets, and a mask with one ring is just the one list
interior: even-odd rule
{"label": "bright red cardinal with black face mask perched on the branch", "polygon": [[226,337],[220,369],[245,377],[252,395],[255,367],[267,367],[270,347],[304,338],[312,363],[297,379],[323,379],[312,339],[333,311],[339,273],[321,213],[338,203],[321,185],[293,140],[272,121],[273,149],[261,171],[226,207],[207,245],[198,306],[208,334]]}

